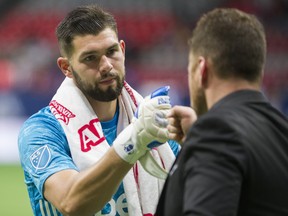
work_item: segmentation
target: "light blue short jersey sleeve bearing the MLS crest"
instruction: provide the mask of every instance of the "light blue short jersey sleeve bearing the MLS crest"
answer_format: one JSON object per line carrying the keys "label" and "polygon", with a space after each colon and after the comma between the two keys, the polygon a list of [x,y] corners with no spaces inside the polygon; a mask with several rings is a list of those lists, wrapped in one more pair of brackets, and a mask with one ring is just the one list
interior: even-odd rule
{"label": "light blue short jersey sleeve bearing the MLS crest", "polygon": [[[28,178],[43,196],[45,180],[65,169],[78,170],[72,161],[65,133],[49,107],[30,117],[18,137],[19,156]],[[44,196],[43,196],[44,197]]]}

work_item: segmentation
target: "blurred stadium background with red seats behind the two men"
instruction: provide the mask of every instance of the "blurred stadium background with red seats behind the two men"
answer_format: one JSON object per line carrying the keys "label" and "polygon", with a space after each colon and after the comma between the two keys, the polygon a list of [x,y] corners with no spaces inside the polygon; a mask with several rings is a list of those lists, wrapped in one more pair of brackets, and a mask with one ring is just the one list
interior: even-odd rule
{"label": "blurred stadium background with red seats behind the two men", "polygon": [[126,42],[127,81],[143,95],[168,84],[172,103],[182,105],[189,105],[187,38],[199,16],[215,7],[255,14],[268,40],[263,91],[288,115],[288,0],[0,0],[1,216],[32,215],[18,131],[64,78],[56,65],[56,25],[71,8],[90,3],[115,15]]}

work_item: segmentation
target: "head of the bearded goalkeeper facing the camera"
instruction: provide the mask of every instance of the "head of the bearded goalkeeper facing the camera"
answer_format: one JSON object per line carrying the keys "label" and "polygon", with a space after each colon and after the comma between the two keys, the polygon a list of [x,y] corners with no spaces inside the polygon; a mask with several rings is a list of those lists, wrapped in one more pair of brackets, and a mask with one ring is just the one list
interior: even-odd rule
{"label": "head of the bearded goalkeeper facing the camera", "polygon": [[116,104],[126,72],[125,43],[118,38],[114,17],[96,5],[79,6],[59,23],[56,35],[63,74],[91,104]]}

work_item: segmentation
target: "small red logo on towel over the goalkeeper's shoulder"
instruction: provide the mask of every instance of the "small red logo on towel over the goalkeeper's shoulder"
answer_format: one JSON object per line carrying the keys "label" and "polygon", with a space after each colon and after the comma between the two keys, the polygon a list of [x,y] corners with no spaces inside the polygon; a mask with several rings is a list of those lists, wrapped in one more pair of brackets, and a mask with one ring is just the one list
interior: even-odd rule
{"label": "small red logo on towel over the goalkeeper's shoulder", "polygon": [[76,116],[69,109],[58,103],[56,100],[52,100],[49,104],[49,107],[53,115],[58,120],[63,121],[66,125],[69,124],[69,120],[71,118],[74,118]]}

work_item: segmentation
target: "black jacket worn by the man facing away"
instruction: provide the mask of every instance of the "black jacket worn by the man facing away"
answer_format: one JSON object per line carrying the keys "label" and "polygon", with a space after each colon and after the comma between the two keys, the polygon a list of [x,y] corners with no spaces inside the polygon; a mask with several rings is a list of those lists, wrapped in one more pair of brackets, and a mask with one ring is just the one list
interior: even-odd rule
{"label": "black jacket worn by the man facing away", "polygon": [[220,100],[191,127],[156,215],[288,215],[287,118],[257,91]]}

